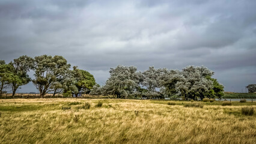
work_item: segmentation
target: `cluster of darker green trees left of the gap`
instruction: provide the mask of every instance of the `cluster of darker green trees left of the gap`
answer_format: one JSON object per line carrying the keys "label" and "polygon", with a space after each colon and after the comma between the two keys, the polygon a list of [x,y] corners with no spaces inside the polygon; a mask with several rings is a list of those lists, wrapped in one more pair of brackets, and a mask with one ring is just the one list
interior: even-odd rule
{"label": "cluster of darker green trees left of the gap", "polygon": [[[48,92],[53,96],[62,93],[65,96],[79,93],[90,93],[96,85],[95,79],[88,71],[73,67],[62,56],[41,55],[31,58],[20,56],[9,64],[0,60],[0,98],[2,94],[11,91],[14,97],[17,89],[31,82],[43,98]],[[34,71],[34,79],[28,76],[28,71]]]}

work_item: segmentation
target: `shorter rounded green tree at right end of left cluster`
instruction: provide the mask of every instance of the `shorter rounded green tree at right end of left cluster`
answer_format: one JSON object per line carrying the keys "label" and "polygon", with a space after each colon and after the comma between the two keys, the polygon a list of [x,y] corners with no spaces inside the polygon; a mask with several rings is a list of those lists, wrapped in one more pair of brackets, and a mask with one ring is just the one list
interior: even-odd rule
{"label": "shorter rounded green tree at right end of left cluster", "polygon": [[85,70],[80,70],[77,67],[73,67],[73,77],[76,88],[78,88],[78,91],[74,91],[76,97],[78,97],[79,92],[89,94],[93,86],[96,85],[93,74]]}

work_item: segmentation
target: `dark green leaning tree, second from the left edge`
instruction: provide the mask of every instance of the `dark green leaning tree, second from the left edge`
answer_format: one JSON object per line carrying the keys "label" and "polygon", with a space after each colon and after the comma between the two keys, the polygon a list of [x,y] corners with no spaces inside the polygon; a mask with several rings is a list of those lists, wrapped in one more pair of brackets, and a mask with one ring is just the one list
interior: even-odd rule
{"label": "dark green leaning tree, second from the left edge", "polygon": [[17,89],[31,81],[27,73],[33,66],[33,59],[26,55],[20,56],[14,59],[14,62],[10,62],[10,65],[13,67],[12,72],[14,74],[11,79],[12,96],[14,98]]}

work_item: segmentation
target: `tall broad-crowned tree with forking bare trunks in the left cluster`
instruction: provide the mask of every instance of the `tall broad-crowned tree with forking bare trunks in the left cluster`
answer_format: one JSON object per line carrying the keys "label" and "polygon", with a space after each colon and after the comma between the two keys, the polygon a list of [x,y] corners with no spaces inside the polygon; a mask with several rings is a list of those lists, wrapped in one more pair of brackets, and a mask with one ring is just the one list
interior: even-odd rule
{"label": "tall broad-crowned tree with forking bare trunks in the left cluster", "polygon": [[35,71],[35,79],[32,80],[35,87],[40,92],[41,98],[47,92],[52,91],[52,85],[66,74],[69,70],[70,64],[62,56],[36,56],[32,70]]}

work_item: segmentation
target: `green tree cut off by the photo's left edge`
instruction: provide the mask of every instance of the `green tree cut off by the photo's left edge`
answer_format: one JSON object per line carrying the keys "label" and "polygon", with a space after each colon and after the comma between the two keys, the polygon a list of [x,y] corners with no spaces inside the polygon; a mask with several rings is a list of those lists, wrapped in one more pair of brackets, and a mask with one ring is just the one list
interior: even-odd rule
{"label": "green tree cut off by the photo's left edge", "polygon": [[11,79],[14,77],[11,69],[11,65],[5,64],[5,61],[0,60],[0,97],[7,91]]}

